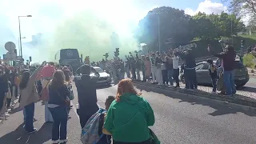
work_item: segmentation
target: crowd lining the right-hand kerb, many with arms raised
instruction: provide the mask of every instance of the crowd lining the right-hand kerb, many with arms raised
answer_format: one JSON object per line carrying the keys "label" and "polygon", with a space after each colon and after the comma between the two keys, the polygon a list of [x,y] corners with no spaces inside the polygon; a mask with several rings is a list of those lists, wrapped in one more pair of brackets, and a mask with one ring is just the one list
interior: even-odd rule
{"label": "crowd lining the right-hand kerb, many with arms raised", "polygon": [[[211,93],[217,94],[217,90],[219,90],[221,94],[235,94],[233,70],[236,53],[233,46],[226,44],[220,54],[215,54],[211,46],[208,47],[208,50],[210,54],[218,58],[217,62],[212,59],[206,60],[210,66],[209,74],[212,79],[213,90]],[[187,90],[198,89],[194,49],[170,49],[163,54],[158,51],[148,54],[136,53],[136,56],[130,53],[129,56],[126,56],[126,60],[115,57],[110,60],[102,59],[99,62],[91,62],[91,65],[106,70],[115,83],[125,78],[126,74],[127,78],[133,80],[179,88],[179,74],[184,73],[185,88]]]}

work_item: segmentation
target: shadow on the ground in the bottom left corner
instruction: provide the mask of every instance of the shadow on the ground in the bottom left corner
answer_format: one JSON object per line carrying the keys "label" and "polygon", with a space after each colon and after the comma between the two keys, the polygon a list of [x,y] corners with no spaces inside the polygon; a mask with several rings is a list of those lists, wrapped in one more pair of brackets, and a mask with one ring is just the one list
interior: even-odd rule
{"label": "shadow on the ground in the bottom left corner", "polygon": [[23,124],[9,134],[6,134],[0,138],[2,144],[15,143],[15,144],[36,144],[44,143],[51,139],[51,124],[44,123],[40,130],[34,134],[26,134],[23,128]]}

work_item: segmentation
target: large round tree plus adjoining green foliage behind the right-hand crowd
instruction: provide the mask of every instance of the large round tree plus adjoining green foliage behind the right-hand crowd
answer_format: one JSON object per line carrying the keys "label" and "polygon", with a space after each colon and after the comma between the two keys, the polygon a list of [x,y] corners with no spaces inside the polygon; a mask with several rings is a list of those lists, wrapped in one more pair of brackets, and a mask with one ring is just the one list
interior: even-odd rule
{"label": "large round tree plus adjoining green foliage behind the right-hand crowd", "polygon": [[[158,25],[158,20],[160,25]],[[236,17],[236,15],[225,12],[222,12],[222,14],[199,12],[194,16],[189,16],[183,10],[162,6],[150,11],[139,22],[135,38],[139,43],[146,43],[148,50],[158,50],[159,26],[162,50],[197,42],[197,49],[200,52],[196,54],[200,57],[208,54],[206,50],[208,44],[222,50],[218,43],[220,38],[230,38],[245,30],[245,25],[240,20],[241,18]],[[170,38],[171,42],[166,44],[166,40]],[[239,48],[240,44],[236,46]]]}

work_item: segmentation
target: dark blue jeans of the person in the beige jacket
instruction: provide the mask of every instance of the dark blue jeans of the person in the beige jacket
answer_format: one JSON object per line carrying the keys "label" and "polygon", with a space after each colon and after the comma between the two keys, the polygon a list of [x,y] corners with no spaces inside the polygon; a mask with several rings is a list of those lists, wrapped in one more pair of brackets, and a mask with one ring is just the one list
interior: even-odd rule
{"label": "dark blue jeans of the person in the beige jacket", "polygon": [[25,129],[29,133],[34,130],[33,118],[34,118],[34,103],[30,103],[25,106]]}

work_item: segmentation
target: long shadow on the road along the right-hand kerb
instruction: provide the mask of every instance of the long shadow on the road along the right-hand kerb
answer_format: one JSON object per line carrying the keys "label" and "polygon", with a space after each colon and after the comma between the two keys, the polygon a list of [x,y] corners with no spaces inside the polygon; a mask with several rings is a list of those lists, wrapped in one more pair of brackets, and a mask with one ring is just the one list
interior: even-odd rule
{"label": "long shadow on the road along the right-hand kerb", "polygon": [[191,105],[210,106],[211,108],[215,109],[213,113],[210,113],[210,115],[212,116],[218,116],[218,115],[224,115],[224,114],[236,114],[236,113],[243,113],[252,117],[256,116],[255,113],[252,113],[247,110],[243,110],[242,108],[227,106],[226,104],[224,104],[224,102],[223,103],[215,102],[207,98],[190,97],[190,96],[187,96],[187,94],[177,94],[177,95],[175,93],[170,94],[170,91],[168,92],[167,90],[159,90],[158,88],[155,89],[150,86],[142,86],[142,85],[136,85],[136,84],[135,86],[137,87],[138,90],[145,90],[146,92],[164,94],[170,98],[178,98],[181,100],[179,102],[190,102]]}

